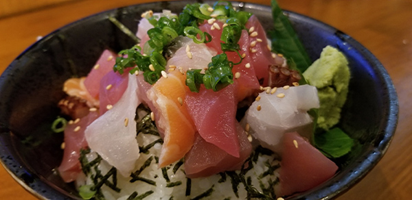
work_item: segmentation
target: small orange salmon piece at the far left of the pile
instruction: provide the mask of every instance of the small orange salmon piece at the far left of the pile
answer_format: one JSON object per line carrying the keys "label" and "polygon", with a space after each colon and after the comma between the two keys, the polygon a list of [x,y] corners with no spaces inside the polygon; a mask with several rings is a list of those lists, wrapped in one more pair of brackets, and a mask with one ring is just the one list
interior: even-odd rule
{"label": "small orange salmon piece at the far left of the pile", "polygon": [[86,77],[67,79],[63,84],[63,91],[69,96],[86,100],[89,107],[99,107],[99,100],[92,97],[84,86],[85,79]]}

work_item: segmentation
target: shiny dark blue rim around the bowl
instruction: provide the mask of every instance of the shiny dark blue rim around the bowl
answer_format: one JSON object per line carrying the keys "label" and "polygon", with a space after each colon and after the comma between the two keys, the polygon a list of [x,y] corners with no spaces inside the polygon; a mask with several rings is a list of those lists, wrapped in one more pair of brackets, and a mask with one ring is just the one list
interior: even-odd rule
{"label": "shiny dark blue rim around the bowl", "polygon": [[[25,55],[25,53],[27,53],[27,51],[30,51],[31,49],[36,47],[36,45],[41,44],[41,42],[43,42],[45,40],[48,40],[48,38],[52,38],[54,35],[56,35],[56,33],[64,31],[65,29],[71,29],[73,27],[76,27],[76,25],[78,25],[79,23],[84,23],[84,21],[93,20],[94,18],[100,18],[102,16],[110,16],[111,14],[115,13],[117,10],[122,10],[123,8],[134,7],[134,6],[138,6],[138,5],[150,5],[150,4],[156,4],[156,3],[161,3],[161,2],[194,3],[194,1],[156,1],[156,2],[150,2],[150,3],[137,3],[137,4],[133,4],[133,5],[120,7],[120,8],[113,8],[111,10],[105,10],[105,11],[102,11],[102,12],[98,12],[98,13],[92,14],[90,16],[80,18],[80,19],[78,19],[76,21],[73,21],[73,22],[71,22],[67,25],[62,26],[62,27],[59,27],[58,29],[54,30],[53,32],[51,32],[51,33],[47,34],[46,36],[44,36],[43,38],[41,38],[41,40],[38,40],[38,41],[34,42],[32,45],[30,45],[30,47],[27,47],[27,49],[25,49],[22,53],[20,53],[14,60],[19,60],[19,58],[23,57]],[[215,1],[204,1],[204,2],[205,3],[213,3]],[[231,1],[231,3],[234,6],[238,6],[240,8],[248,8],[248,9],[257,10],[257,11],[260,10],[262,12],[271,12],[271,6],[270,5],[260,5],[260,4],[257,4],[257,3],[249,3],[249,2],[242,2],[242,1]],[[377,71],[375,71],[375,72],[378,73],[378,75],[380,75],[382,77],[382,81],[384,82],[385,87],[387,87],[389,108],[386,108],[386,109],[389,112],[387,113],[387,118],[385,118],[385,125],[382,126],[382,127],[384,127],[384,129],[382,129],[383,138],[382,138],[382,140],[379,140],[375,143],[374,148],[369,149],[367,152],[364,153],[364,154],[367,155],[367,157],[365,159],[363,159],[361,162],[358,162],[358,164],[354,165],[354,168],[363,167],[363,171],[361,171],[361,173],[356,177],[350,176],[350,177],[347,177],[346,179],[339,179],[339,180],[334,181],[334,182],[330,182],[330,180],[329,180],[327,182],[324,182],[320,186],[317,186],[316,188],[312,188],[311,190],[306,191],[306,192],[301,192],[298,195],[293,196],[291,198],[291,199],[319,199],[319,196],[316,196],[318,193],[323,194],[324,192],[328,192],[328,194],[330,194],[330,195],[322,196],[321,199],[333,199],[334,197],[338,197],[339,195],[343,194],[343,192],[349,190],[350,188],[352,188],[352,186],[354,186],[361,179],[363,179],[363,177],[365,177],[365,175],[367,175],[367,173],[369,173],[372,170],[372,168],[374,168],[374,166],[376,166],[377,162],[386,153],[386,151],[389,147],[389,144],[390,144],[390,142],[393,138],[393,134],[396,131],[396,125],[398,123],[398,112],[399,112],[398,96],[396,94],[396,89],[393,86],[393,82],[391,81],[391,78],[389,77],[389,74],[387,73],[387,70],[385,69],[385,67],[378,61],[378,59],[368,49],[366,49],[366,47],[361,45],[361,43],[354,40],[354,38],[352,38],[351,36],[341,32],[339,29],[336,29],[336,28],[334,28],[334,27],[332,27],[332,26],[330,26],[326,23],[323,23],[322,21],[319,21],[315,18],[312,18],[310,16],[306,16],[304,14],[299,14],[297,12],[293,12],[293,11],[290,11],[290,10],[284,10],[284,14],[286,14],[289,17],[296,18],[299,21],[310,22],[310,23],[316,24],[318,26],[321,26],[323,29],[328,29],[328,30],[332,30],[332,31],[337,32],[337,34],[339,34],[339,37],[341,37],[341,39],[344,39],[345,42],[350,43],[350,45],[352,47],[354,47],[355,49],[362,50],[361,55],[363,56],[363,58],[368,58],[367,61],[371,64],[371,66],[374,66],[374,68],[377,69]],[[4,75],[7,74],[7,73],[10,73],[12,71],[13,71],[13,68],[12,68],[12,63],[11,63],[7,68],[5,68],[5,71],[1,74],[0,88],[3,86],[3,84],[5,82],[5,78],[3,78]],[[8,127],[7,127],[7,125],[0,124],[0,134],[11,134]],[[10,153],[9,151],[14,150],[14,149],[13,149],[13,147],[8,147],[8,145],[3,145],[3,140],[0,140],[0,142],[1,142],[0,143],[0,155],[2,155],[2,158],[0,159],[0,163],[3,166],[3,168],[5,168],[5,171],[7,171],[12,176],[12,178],[14,180],[16,180],[16,182],[18,182],[23,188],[25,188],[25,190],[32,193],[37,198],[39,198],[39,199],[48,199],[49,196],[45,197],[45,196],[43,196],[39,193],[40,192],[39,190],[44,190],[44,188],[38,189],[38,188],[33,188],[32,186],[29,186],[28,184],[26,184],[24,182],[23,179],[21,179],[21,177],[18,177],[12,171],[11,164],[6,163],[5,158],[3,158],[3,157],[5,157],[5,155],[12,156],[12,153]],[[33,172],[30,171],[30,169],[28,169],[27,166],[24,166],[24,162],[22,162],[19,158],[16,158],[14,160],[15,160],[14,162],[16,162],[16,164],[19,164],[19,167],[21,169],[33,174]],[[371,162],[371,161],[373,161],[373,162]],[[61,191],[57,190],[56,187],[50,186],[49,184],[45,184],[44,182],[42,182],[41,177],[36,177],[35,176],[34,180],[35,180],[35,182],[38,182],[38,183],[41,183],[41,184],[43,183],[43,186],[47,190],[53,190],[54,191],[53,194],[57,194],[57,195],[60,195],[60,197],[66,197],[67,198],[67,196],[65,194],[63,194]],[[336,184],[337,182],[344,182],[345,184],[343,184],[339,188],[335,188],[333,190],[330,190],[329,189],[330,186]],[[316,194],[310,192],[312,190],[316,191]],[[332,192],[332,193],[330,193],[330,192]],[[52,197],[54,197],[54,196],[52,196]]]}

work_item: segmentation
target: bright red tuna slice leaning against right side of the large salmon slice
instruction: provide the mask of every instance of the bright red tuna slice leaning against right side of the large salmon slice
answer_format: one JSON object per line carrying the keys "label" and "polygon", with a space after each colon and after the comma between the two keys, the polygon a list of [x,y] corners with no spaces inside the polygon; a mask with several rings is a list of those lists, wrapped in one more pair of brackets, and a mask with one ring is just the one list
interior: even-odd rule
{"label": "bright red tuna slice leaning against right side of the large salmon slice", "polygon": [[202,138],[239,158],[235,91],[233,84],[218,92],[202,86],[198,93],[187,92],[185,104]]}

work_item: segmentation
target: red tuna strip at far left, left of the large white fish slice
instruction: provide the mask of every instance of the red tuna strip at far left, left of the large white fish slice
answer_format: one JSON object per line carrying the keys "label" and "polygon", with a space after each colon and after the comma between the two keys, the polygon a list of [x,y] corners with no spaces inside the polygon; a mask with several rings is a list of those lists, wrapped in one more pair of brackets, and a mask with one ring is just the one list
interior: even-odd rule
{"label": "red tuna strip at far left, left of the large white fish slice", "polygon": [[84,130],[98,118],[98,116],[98,112],[89,112],[89,114],[81,118],[80,121],[75,121],[76,123],[69,124],[65,128],[65,152],[58,171],[60,177],[67,183],[76,180],[82,171],[79,162],[80,149],[87,147]]}

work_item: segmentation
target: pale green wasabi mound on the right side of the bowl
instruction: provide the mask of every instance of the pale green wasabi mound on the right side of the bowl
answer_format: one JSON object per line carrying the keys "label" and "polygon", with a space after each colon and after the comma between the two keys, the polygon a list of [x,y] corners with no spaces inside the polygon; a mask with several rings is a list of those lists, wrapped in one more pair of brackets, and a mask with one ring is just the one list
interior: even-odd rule
{"label": "pale green wasabi mound on the right side of the bowl", "polygon": [[350,70],[345,55],[327,46],[303,75],[310,85],[318,89],[321,107],[317,125],[328,130],[339,122],[341,108],[346,101]]}

